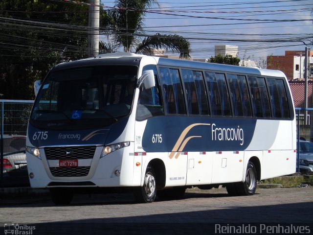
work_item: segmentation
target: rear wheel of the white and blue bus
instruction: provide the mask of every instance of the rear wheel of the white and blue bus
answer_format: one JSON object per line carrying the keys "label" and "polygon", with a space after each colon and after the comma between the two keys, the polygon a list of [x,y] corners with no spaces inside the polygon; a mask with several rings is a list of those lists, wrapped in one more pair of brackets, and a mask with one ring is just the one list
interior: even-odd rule
{"label": "rear wheel of the white and blue bus", "polygon": [[251,196],[256,190],[257,174],[255,166],[252,162],[248,162],[246,167],[246,179],[245,182],[239,182],[237,184],[238,194],[241,196]]}

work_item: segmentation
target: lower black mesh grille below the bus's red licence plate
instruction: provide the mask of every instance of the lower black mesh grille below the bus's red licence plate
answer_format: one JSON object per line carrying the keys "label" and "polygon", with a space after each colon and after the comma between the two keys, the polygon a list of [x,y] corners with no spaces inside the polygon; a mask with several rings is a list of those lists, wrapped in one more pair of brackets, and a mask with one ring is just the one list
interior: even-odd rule
{"label": "lower black mesh grille below the bus's red licence plate", "polygon": [[87,176],[90,166],[78,167],[50,167],[51,174],[54,177],[80,177]]}

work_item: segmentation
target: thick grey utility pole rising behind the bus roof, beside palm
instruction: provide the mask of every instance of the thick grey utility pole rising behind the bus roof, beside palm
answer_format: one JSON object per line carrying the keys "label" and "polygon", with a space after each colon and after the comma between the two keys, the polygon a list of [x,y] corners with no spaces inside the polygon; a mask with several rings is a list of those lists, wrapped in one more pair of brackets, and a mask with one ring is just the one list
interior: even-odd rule
{"label": "thick grey utility pole rising behind the bus roof, beside palm", "polygon": [[93,57],[99,54],[99,0],[89,0],[88,15],[88,56]]}

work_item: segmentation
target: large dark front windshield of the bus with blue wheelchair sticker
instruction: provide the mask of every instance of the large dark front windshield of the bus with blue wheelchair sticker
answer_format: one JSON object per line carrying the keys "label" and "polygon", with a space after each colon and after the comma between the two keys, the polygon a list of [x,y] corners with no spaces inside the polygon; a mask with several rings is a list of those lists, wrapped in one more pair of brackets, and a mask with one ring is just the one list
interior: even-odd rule
{"label": "large dark front windshield of the bus with blue wheelchair sticker", "polygon": [[35,126],[51,128],[110,125],[130,114],[137,71],[136,66],[52,71],[37,95],[30,120]]}

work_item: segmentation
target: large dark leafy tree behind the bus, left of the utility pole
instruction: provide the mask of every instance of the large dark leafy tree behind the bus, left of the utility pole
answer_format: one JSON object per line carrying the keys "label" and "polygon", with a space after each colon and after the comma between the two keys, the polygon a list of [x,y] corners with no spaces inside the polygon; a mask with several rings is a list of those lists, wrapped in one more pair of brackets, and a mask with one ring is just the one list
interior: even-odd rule
{"label": "large dark leafy tree behind the bus, left of the utility pole", "polygon": [[[0,98],[33,99],[33,82],[61,62],[87,56],[88,5],[0,1]],[[100,24],[105,24],[101,9]]]}

